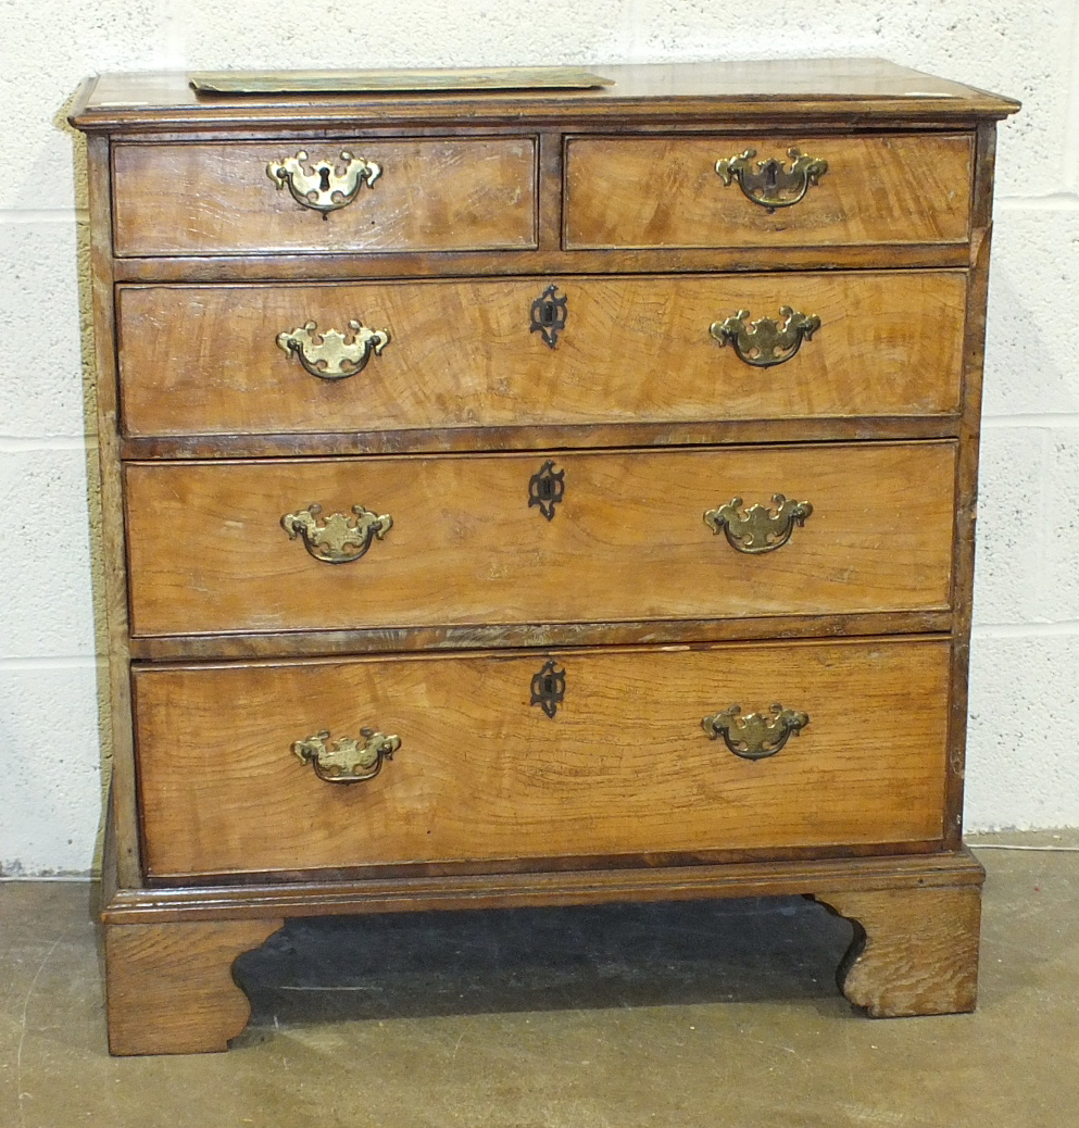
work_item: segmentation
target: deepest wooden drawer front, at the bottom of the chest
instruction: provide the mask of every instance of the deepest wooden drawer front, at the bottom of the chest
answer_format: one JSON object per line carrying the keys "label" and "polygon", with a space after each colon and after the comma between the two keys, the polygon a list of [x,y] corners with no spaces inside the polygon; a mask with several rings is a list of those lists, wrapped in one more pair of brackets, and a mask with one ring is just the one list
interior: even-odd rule
{"label": "deepest wooden drawer front, at the bottom of the chest", "polygon": [[[879,641],[138,669],[148,870],[939,839],[948,658]],[[532,704],[547,661],[554,716]]]}

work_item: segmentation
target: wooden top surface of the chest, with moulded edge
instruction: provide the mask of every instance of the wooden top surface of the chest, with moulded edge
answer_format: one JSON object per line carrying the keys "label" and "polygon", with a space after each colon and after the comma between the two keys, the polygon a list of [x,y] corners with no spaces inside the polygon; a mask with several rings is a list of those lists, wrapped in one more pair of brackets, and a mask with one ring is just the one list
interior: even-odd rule
{"label": "wooden top surface of the chest, with moulded edge", "polygon": [[[612,85],[565,90],[206,95],[184,72],[103,74],[76,98],[71,122],[86,131],[127,127],[273,127],[284,124],[520,124],[631,117],[692,124],[702,118],[957,123],[1000,118],[1018,103],[878,59],[768,60],[594,68]],[[428,72],[431,73],[431,72]]]}

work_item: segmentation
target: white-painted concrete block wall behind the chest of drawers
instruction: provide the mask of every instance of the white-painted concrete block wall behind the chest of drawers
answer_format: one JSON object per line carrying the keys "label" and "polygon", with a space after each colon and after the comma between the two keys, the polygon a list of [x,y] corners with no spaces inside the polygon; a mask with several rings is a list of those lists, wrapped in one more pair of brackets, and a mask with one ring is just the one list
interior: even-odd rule
{"label": "white-painted concrete block wall behind the chest of drawers", "polygon": [[966,822],[1079,825],[1076,0],[0,0],[0,874],[89,871],[107,774],[85,191],[63,124],[79,80],[819,55],[882,56],[1024,103],[998,161]]}

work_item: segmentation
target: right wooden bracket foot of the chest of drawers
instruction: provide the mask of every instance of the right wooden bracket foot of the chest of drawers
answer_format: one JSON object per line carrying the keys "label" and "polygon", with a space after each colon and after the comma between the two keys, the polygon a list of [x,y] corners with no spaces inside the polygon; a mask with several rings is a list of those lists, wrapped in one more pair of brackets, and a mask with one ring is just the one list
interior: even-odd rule
{"label": "right wooden bracket foot of the chest of drawers", "polygon": [[855,922],[840,990],[875,1019],[973,1011],[981,888],[842,890],[815,898]]}

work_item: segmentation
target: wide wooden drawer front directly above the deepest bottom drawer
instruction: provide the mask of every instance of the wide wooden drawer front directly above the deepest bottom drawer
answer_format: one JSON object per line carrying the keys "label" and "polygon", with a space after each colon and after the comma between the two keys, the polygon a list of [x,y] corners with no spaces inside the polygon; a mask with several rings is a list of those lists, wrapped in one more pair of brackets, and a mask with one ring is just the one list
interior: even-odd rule
{"label": "wide wooden drawer front directly above the deepest bottom drawer", "polygon": [[130,464],[132,628],[944,608],[954,470],[953,442]]}

